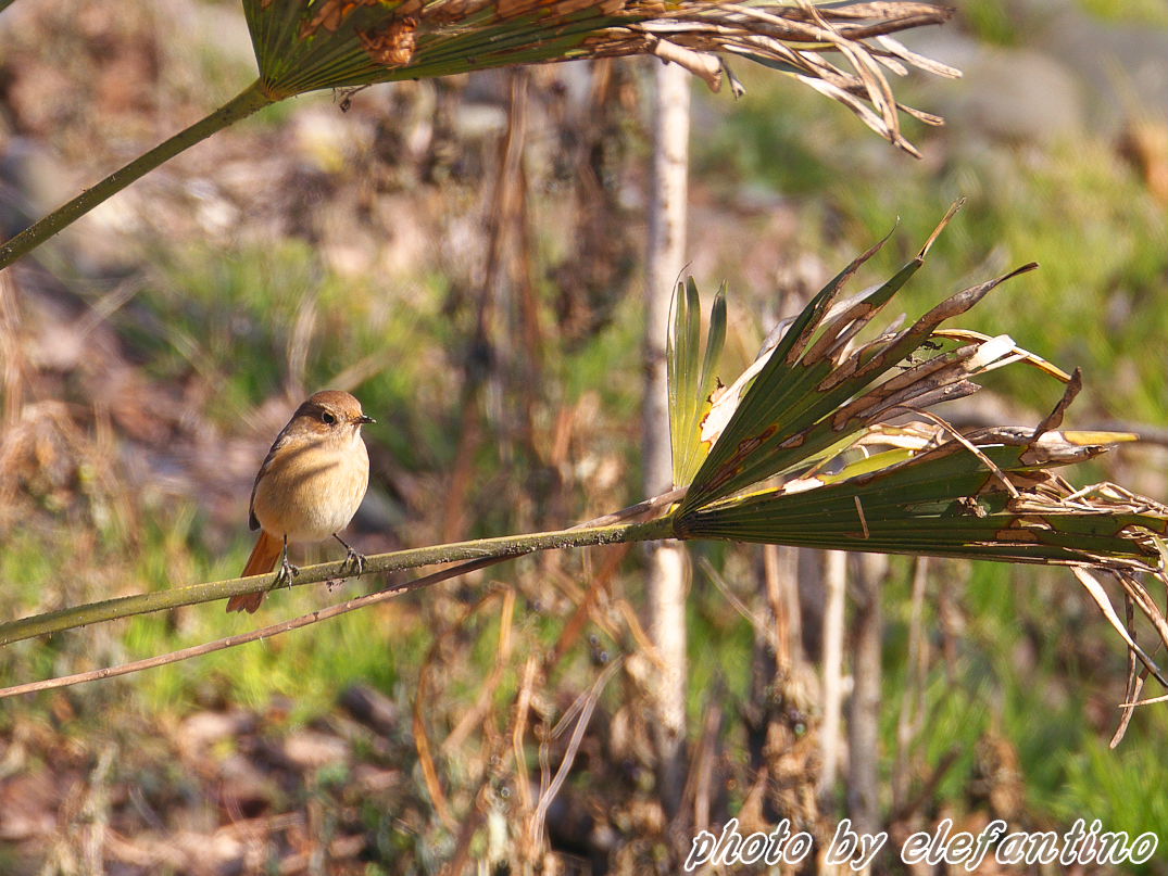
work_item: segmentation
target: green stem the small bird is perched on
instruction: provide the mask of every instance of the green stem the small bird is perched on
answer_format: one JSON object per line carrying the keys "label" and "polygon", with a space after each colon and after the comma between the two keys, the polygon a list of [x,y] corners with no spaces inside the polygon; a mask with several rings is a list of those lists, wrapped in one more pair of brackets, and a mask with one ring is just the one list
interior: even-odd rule
{"label": "green stem the small bird is perched on", "polygon": [[[589,545],[614,545],[625,541],[649,541],[669,538],[673,534],[673,519],[665,517],[648,523],[626,524],[623,526],[592,526],[559,530],[555,532],[537,532],[527,535],[508,535],[477,541],[459,541],[450,545],[422,547],[411,551],[396,551],[368,558],[369,562],[362,574],[399,572],[420,566],[433,566],[443,562],[461,560],[486,560],[491,558],[522,556],[536,551],[549,551],[563,547],[585,547]],[[325,562],[305,566],[293,581],[294,584],[311,584],[320,581],[356,577],[352,563]],[[120,596],[103,600],[86,605],[74,605],[58,611],[20,618],[0,624],[0,646],[34,636],[47,636],[54,632],[71,630],[77,626],[113,621],[150,611],[194,605],[202,602],[214,602],[230,596],[259,593],[276,586],[276,575],[252,575],[228,581],[178,587],[150,594]]]}

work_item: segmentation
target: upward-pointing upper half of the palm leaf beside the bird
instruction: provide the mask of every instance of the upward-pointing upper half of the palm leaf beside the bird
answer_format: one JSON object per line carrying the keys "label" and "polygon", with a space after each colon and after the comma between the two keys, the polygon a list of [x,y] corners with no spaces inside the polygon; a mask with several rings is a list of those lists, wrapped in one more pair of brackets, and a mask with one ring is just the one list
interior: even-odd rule
{"label": "upward-pointing upper half of the palm leaf beside the bird", "polygon": [[[897,373],[862,397],[865,386],[897,369],[926,343],[944,320],[968,310],[1004,280],[1035,266],[1026,265],[1004,276],[958,293],[908,329],[890,327],[858,349],[851,341],[891,301],[924,265],[932,241],[952,218],[946,215],[915,259],[882,286],[840,301],[843,287],[856,271],[883,246],[878,241],[861,254],[785,327],[758,363],[752,383],[736,383],[729,398],[718,402],[732,408],[716,443],[689,486],[680,513],[729,496],[766,477],[784,472],[849,434],[882,419],[884,412],[910,401],[936,404],[968,394],[975,387],[965,378],[1013,351],[1009,338],[986,343],[959,342],[950,351]],[[940,348],[938,348],[940,349]],[[741,400],[739,397],[741,395]],[[729,402],[729,404],[726,404]],[[830,414],[830,419],[827,415]]]}

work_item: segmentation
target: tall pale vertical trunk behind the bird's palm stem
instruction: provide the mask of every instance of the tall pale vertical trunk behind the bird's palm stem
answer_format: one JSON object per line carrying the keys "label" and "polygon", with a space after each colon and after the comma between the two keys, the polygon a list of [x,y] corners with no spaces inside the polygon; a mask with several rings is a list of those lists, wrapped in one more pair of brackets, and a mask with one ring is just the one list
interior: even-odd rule
{"label": "tall pale vertical trunk behind the bird's palm stem", "polygon": [[[689,73],[676,64],[661,64],[655,85],[645,318],[642,458],[647,496],[673,485],[665,339],[669,300],[686,258]],[[670,818],[677,813],[684,785],[686,583],[686,554],[680,544],[663,542],[649,549],[649,636],[665,665],[653,692],[653,728],[661,801]]]}

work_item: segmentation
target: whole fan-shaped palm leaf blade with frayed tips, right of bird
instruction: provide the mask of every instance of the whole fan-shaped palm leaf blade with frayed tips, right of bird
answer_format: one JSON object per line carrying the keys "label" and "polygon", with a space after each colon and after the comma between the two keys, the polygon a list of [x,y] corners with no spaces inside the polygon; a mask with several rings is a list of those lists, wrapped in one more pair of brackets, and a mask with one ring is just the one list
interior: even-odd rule
{"label": "whole fan-shaped palm leaf blade with frayed tips, right of bird", "polygon": [[[1110,483],[1076,490],[1057,474],[1135,436],[1062,429],[1078,371],[1066,374],[1006,335],[940,327],[1036,265],[960,292],[908,328],[858,339],[954,210],[895,276],[841,299],[883,241],[860,255],[715,394],[700,427],[712,446],[670,514],[674,535],[1108,572],[1168,644],[1168,621],[1139,582],[1147,574],[1168,586],[1168,506]],[[1065,383],[1037,426],[962,433],[929,411],[1016,363]],[[1106,602],[1098,587],[1091,595]],[[1110,602],[1104,612],[1114,623]],[[1168,686],[1147,653],[1132,653]]]}

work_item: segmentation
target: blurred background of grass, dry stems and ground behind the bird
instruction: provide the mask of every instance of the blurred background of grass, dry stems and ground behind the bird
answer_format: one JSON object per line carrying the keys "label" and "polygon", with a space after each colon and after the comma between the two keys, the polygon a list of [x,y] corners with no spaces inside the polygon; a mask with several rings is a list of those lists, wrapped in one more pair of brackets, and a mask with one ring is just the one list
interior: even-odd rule
{"label": "blurred background of grass, dry stems and ground behind the bird", "polygon": [[[236,3],[117,7],[0,15],[6,236],[253,77]],[[965,196],[906,292],[910,316],[1040,261],[962,327],[1082,366],[1068,425],[1149,440],[1075,476],[1168,499],[1168,12],[985,0],[905,42],[965,71],[899,86],[947,119],[910,129],[920,161],[765,71],[735,69],[737,101],[695,85],[690,272],[709,290],[729,283],[723,377],[894,223],[861,282],[889,275]],[[353,391],[378,419],[353,528],[366,553],[554,528],[642,498],[646,71],[375,86],[346,111],[328,93],[285,101],[7,272],[2,616],[237,575],[256,467],[322,387]],[[508,136],[522,162],[505,175]],[[1029,370],[1000,373],[947,415],[1034,423],[1059,393]],[[829,838],[848,789],[815,801],[821,562],[751,546],[691,554],[705,562],[688,607],[684,829],[787,817]],[[371,875],[459,859],[674,871],[682,822],[653,792],[639,565],[628,548],[524,559],[272,642],[5,701],[0,871]],[[776,568],[798,569],[802,621],[781,665],[759,619]],[[915,603],[913,572],[892,560],[882,588],[892,842],[945,817],[974,832],[992,818],[1057,831],[1098,818],[1159,831],[1143,870],[1168,873],[1168,713],[1139,712],[1107,749],[1125,656],[1071,575],[936,561]],[[377,583],[303,588],[264,610]],[[207,605],[19,643],[0,652],[0,678],[251,623]],[[620,656],[548,813],[549,845],[530,842],[514,813],[564,757],[570,733],[552,730]],[[507,759],[516,721],[522,768]]]}

